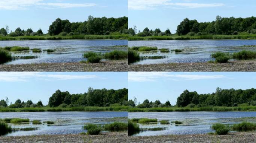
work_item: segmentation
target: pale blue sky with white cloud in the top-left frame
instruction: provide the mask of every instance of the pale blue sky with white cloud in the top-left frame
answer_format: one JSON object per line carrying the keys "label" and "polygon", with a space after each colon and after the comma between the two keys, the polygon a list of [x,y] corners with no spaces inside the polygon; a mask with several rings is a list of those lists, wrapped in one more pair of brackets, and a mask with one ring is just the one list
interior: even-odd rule
{"label": "pale blue sky with white cloud in the top-left frame", "polygon": [[57,19],[83,22],[89,15],[107,18],[128,16],[127,0],[1,0],[0,28],[5,25],[15,31],[39,28],[47,33],[51,23]]}

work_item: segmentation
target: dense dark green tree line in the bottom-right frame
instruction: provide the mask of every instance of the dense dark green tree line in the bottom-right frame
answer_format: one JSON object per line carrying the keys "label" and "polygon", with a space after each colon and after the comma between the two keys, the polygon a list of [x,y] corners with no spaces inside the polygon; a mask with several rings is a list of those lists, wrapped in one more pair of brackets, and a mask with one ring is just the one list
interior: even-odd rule
{"label": "dense dark green tree line in the bottom-right frame", "polygon": [[[135,107],[134,101],[129,100],[130,106]],[[136,102],[136,100],[135,100]],[[173,107],[237,107],[237,106],[256,106],[256,89],[221,89],[217,88],[214,93],[198,94],[196,91],[189,92],[184,90],[177,98],[176,105]],[[162,104],[159,100],[155,102],[144,100],[139,103],[137,108],[155,108],[155,107],[172,107],[167,101]]]}

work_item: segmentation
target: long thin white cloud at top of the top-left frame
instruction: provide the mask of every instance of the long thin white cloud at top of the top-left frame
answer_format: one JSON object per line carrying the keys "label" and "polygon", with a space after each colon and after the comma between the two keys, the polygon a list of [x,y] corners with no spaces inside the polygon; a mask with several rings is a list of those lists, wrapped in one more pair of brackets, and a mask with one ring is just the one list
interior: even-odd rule
{"label": "long thin white cloud at top of the top-left frame", "polygon": [[25,10],[30,6],[43,6],[43,8],[72,8],[72,7],[92,7],[95,3],[44,3],[45,0],[1,0],[0,9],[4,10]]}

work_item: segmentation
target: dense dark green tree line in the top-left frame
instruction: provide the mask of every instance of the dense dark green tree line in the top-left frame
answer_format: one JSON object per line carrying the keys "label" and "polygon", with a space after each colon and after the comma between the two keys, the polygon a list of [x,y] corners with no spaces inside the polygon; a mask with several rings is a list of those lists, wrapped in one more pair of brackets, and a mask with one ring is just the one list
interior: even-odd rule
{"label": "dense dark green tree line in the top-left frame", "polygon": [[[84,22],[70,22],[69,20],[61,20],[57,18],[49,26],[47,35],[61,35],[61,36],[72,36],[72,35],[109,35],[109,34],[128,34],[128,18],[94,18],[88,17],[87,21]],[[44,35],[42,30],[33,31],[31,28],[24,30],[16,28],[16,30],[10,31],[9,27],[0,29],[0,35],[2,36],[36,36]]]}

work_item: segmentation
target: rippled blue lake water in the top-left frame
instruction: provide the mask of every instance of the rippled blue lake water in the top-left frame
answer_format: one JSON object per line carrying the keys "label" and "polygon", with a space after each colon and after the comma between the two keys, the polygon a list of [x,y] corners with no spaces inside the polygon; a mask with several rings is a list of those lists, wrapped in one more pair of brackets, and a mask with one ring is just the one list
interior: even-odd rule
{"label": "rippled blue lake water in the top-left frame", "polygon": [[[83,53],[88,51],[106,53],[113,50],[127,51],[127,47],[113,47],[115,45],[127,45],[127,40],[35,40],[35,41],[0,41],[0,47],[21,46],[40,48],[42,53],[12,52],[13,56],[39,56],[36,59],[13,60],[6,64],[28,64],[28,63],[70,63],[86,60]],[[46,49],[55,50],[47,54]]]}

